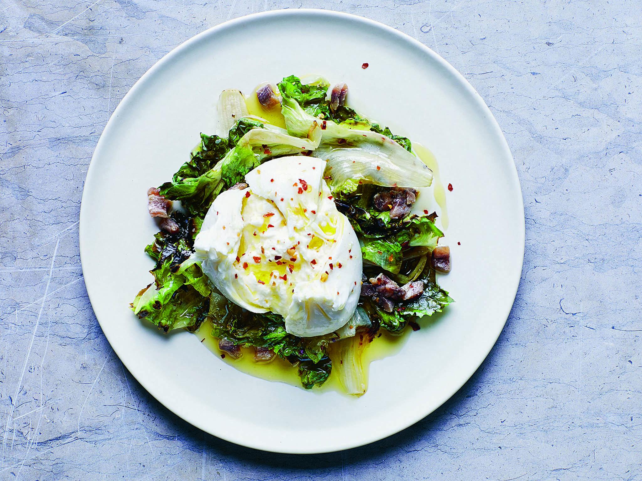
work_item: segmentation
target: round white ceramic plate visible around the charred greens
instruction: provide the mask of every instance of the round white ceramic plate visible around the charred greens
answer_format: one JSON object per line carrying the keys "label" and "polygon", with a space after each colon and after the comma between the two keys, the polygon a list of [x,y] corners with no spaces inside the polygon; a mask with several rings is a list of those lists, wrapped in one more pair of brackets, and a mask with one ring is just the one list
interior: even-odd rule
{"label": "round white ceramic plate visible around the charred greens", "polygon": [[[369,63],[368,69],[361,64]],[[437,156],[447,192],[456,303],[370,367],[349,398],[240,373],[187,332],[162,335],[128,305],[151,282],[143,253],[157,231],[146,190],[171,178],[216,124],[223,89],[318,73],[346,81],[358,112]],[[461,246],[457,245],[461,243]],[[164,56],[125,96],[92,158],[80,212],[87,292],[114,351],[178,416],[261,450],[319,453],[394,434],[435,410],[487,356],[512,306],[524,254],[524,211],[506,141],[480,96],[442,58],[377,22],[322,10],[250,15],[211,28]]]}

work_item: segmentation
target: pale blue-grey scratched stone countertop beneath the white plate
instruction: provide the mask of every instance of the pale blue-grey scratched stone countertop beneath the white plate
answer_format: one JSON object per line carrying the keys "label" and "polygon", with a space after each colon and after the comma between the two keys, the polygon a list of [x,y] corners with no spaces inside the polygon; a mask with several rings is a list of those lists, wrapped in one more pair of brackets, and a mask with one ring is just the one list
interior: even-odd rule
{"label": "pale blue-grey scratched stone countertop beneath the white plate", "polygon": [[324,3],[446,58],[515,158],[526,214],[519,292],[489,357],[436,412],[362,448],[276,455],[193,428],[123,367],[78,253],[101,131],[187,38],[300,6],[318,4],[0,2],[0,479],[642,480],[636,0]]}

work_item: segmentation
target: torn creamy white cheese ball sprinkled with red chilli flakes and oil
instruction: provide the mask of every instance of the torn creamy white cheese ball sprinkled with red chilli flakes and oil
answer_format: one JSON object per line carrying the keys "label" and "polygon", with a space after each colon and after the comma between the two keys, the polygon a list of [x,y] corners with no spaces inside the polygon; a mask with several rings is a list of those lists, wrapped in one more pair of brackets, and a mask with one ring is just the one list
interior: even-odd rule
{"label": "torn creamy white cheese ball sprinkled with red chilli flakes and oil", "polygon": [[204,273],[229,300],[272,311],[286,331],[323,335],[345,325],[361,291],[361,249],[336,210],[315,157],[270,160],[210,207],[196,241]]}

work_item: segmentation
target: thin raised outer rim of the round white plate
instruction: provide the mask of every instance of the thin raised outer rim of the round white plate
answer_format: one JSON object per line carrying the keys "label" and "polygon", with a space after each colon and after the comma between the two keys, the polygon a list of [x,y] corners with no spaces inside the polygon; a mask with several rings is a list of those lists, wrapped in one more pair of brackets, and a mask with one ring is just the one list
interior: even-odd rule
{"label": "thin raised outer rim of the round white plate", "polygon": [[[93,310],[94,304],[92,302],[92,297],[97,298],[98,294],[92,291],[91,287],[87,283],[87,279],[85,278],[85,266],[87,265],[87,262],[85,262],[85,259],[87,258],[86,257],[87,251],[89,249],[89,247],[87,247],[87,244],[85,243],[86,235],[83,234],[88,224],[87,209],[84,208],[84,206],[86,205],[85,198],[89,196],[88,190],[87,190],[87,184],[90,183],[90,180],[94,176],[94,170],[95,170],[94,167],[96,165],[96,162],[94,162],[94,159],[100,156],[101,149],[103,148],[103,144],[105,143],[104,139],[108,137],[108,134],[114,128],[114,124],[116,124],[115,119],[118,117],[119,112],[126,108],[128,101],[132,99],[139,90],[143,89],[144,87],[143,84],[146,83],[146,80],[148,78],[153,76],[153,74],[155,74],[156,71],[162,69],[165,63],[171,62],[171,60],[173,60],[175,56],[180,55],[182,51],[189,48],[191,44],[195,44],[196,42],[199,42],[202,38],[208,37],[210,35],[216,35],[217,33],[224,30],[228,30],[230,28],[236,28],[237,26],[245,22],[252,22],[257,20],[269,21],[273,17],[288,17],[288,16],[295,17],[297,15],[318,15],[318,16],[325,16],[329,18],[340,18],[347,21],[358,22],[361,24],[365,24],[366,26],[370,26],[372,28],[384,30],[390,35],[394,35],[400,40],[403,40],[404,42],[408,42],[410,46],[419,48],[421,51],[426,53],[426,55],[428,55],[433,62],[437,62],[440,65],[440,67],[446,69],[446,71],[449,72],[449,74],[455,76],[456,80],[458,80],[458,83],[460,83],[461,86],[465,90],[467,90],[469,94],[471,94],[471,97],[474,99],[474,103],[476,104],[475,105],[476,108],[480,108],[487,115],[489,120],[489,126],[492,125],[492,130],[498,136],[499,142],[501,144],[501,148],[503,150],[503,155],[507,156],[507,159],[510,158],[510,160],[512,161],[510,162],[510,167],[512,168],[508,170],[510,171],[510,176],[512,177],[512,183],[514,183],[514,185],[517,187],[517,192],[519,192],[519,196],[518,196],[519,201],[518,201],[517,207],[518,207],[518,211],[521,212],[522,215],[520,216],[521,225],[517,226],[517,227],[520,227],[519,238],[521,241],[520,242],[521,244],[520,259],[521,260],[519,263],[519,271],[516,271],[517,272],[516,278],[512,278],[507,282],[508,285],[511,285],[511,284],[514,285],[514,288],[512,289],[512,291],[509,291],[509,292],[512,292],[512,302],[508,306],[508,310],[505,313],[503,313],[504,320],[501,323],[501,326],[498,325],[497,332],[494,333],[494,335],[489,337],[489,339],[492,339],[492,342],[490,342],[488,346],[485,346],[485,348],[483,348],[482,352],[485,352],[485,354],[483,354],[480,359],[476,359],[474,363],[471,363],[471,365],[475,364],[476,367],[474,367],[474,369],[471,370],[469,375],[465,376],[465,378],[462,379],[462,382],[460,384],[457,383],[459,385],[456,387],[456,389],[453,392],[451,392],[450,394],[444,394],[440,396],[439,400],[435,402],[435,405],[431,405],[426,409],[417,409],[415,411],[415,416],[410,417],[409,421],[401,423],[400,425],[395,425],[393,428],[386,428],[385,430],[380,430],[377,432],[377,434],[369,434],[363,437],[362,439],[360,439],[357,443],[351,443],[350,441],[341,441],[334,444],[332,448],[293,449],[290,447],[288,449],[283,449],[281,448],[281,446],[278,445],[278,443],[273,443],[271,446],[267,443],[265,444],[253,443],[251,441],[252,438],[234,435],[234,433],[230,434],[227,432],[218,432],[216,429],[205,428],[202,425],[202,423],[200,423],[198,418],[193,414],[190,414],[185,410],[173,409],[173,407],[170,407],[171,403],[170,402],[166,403],[166,401],[168,400],[162,399],[162,398],[165,398],[166,396],[161,395],[161,393],[159,392],[155,384],[153,384],[152,382],[141,380],[141,378],[139,378],[139,376],[137,375],[136,366],[129,366],[128,364],[125,364],[125,362],[123,361],[119,353],[119,348],[116,348],[116,346],[114,346],[114,343],[112,343],[112,340],[110,339],[109,335],[107,335],[107,333],[103,329],[103,323],[101,323],[101,320],[98,317],[98,314],[96,314],[95,310],[94,310],[94,316],[96,316],[96,320],[98,321],[98,324],[100,325],[101,330],[103,331],[103,335],[105,335],[105,338],[109,342],[112,350],[114,350],[114,353],[116,353],[119,360],[123,362],[123,365],[125,365],[125,367],[128,369],[130,374],[134,376],[135,380],[137,380],[137,382],[139,382],[139,384],[141,384],[146,391],[148,391],[166,409],[168,409],[173,414],[175,414],[175,416],[178,416],[179,418],[183,419],[187,423],[190,423],[191,425],[195,426],[196,428],[204,432],[207,432],[208,434],[214,435],[230,443],[238,444],[239,446],[245,446],[256,450],[268,451],[273,453],[319,454],[319,453],[331,453],[331,452],[342,451],[342,450],[347,450],[351,448],[357,448],[359,446],[365,446],[366,444],[374,443],[381,439],[385,439],[386,437],[397,434],[398,432],[403,431],[409,426],[414,425],[415,423],[421,421],[421,419],[426,418],[426,416],[428,416],[429,414],[437,410],[439,407],[441,407],[447,400],[453,397],[456,394],[456,392],[458,392],[470,380],[470,378],[474,375],[474,373],[476,373],[476,371],[480,368],[480,366],[482,366],[483,361],[488,357],[488,355],[490,354],[490,351],[497,343],[497,340],[499,339],[499,335],[503,331],[508,321],[508,316],[510,316],[510,310],[512,310],[512,307],[514,305],[515,298],[517,296],[517,291],[519,289],[519,282],[521,280],[521,272],[524,266],[525,241],[526,241],[526,222],[525,222],[524,201],[523,201],[523,193],[521,190],[521,183],[519,182],[517,167],[515,165],[515,161],[512,156],[512,153],[510,152],[508,142],[503,134],[503,131],[501,131],[501,128],[499,127],[497,120],[495,119],[494,115],[490,111],[489,106],[482,99],[482,96],[478,94],[478,92],[474,89],[473,85],[471,85],[471,83],[469,83],[469,81],[466,80],[466,78],[460,72],[458,72],[455,69],[455,67],[453,67],[449,62],[447,62],[444,58],[442,58],[442,56],[438,55],[438,53],[430,49],[428,46],[425,46],[424,44],[419,42],[419,40],[417,40],[416,38],[413,38],[402,31],[396,30],[395,28],[392,28],[381,22],[377,22],[375,20],[369,19],[367,17],[362,17],[360,15],[355,15],[353,13],[337,12],[335,10],[323,10],[318,8],[293,8],[293,9],[286,8],[286,9],[279,9],[279,10],[269,10],[266,12],[257,12],[257,13],[251,13],[249,15],[243,15],[242,17],[221,22],[220,24],[207,28],[206,30],[178,44],[178,46],[174,47],[168,53],[162,56],[159,60],[157,60],[157,62],[155,62],[152,65],[152,67],[150,67],[150,69],[144,72],[141,78],[135,81],[134,85],[132,85],[132,87],[128,90],[125,96],[123,96],[123,99],[121,99],[121,101],[118,103],[118,105],[114,109],[114,112],[112,112],[112,114],[110,115],[107,123],[105,124],[105,128],[103,128],[103,131],[101,132],[100,139],[96,144],[96,148],[94,149],[94,153],[89,163],[89,167],[87,168],[87,175],[85,177],[85,182],[83,183],[83,194],[82,194],[81,205],[80,205],[78,231],[79,231],[80,263],[83,270],[83,282],[85,283],[85,289],[87,290],[87,297],[89,298],[89,301],[92,305],[92,310]],[[106,133],[107,135],[105,135]],[[517,233],[517,229],[516,229],[516,233]],[[83,255],[83,252],[85,253],[85,255]]]}

